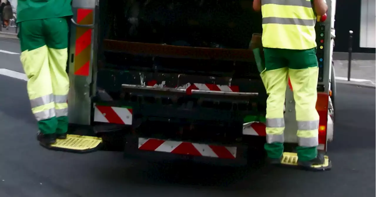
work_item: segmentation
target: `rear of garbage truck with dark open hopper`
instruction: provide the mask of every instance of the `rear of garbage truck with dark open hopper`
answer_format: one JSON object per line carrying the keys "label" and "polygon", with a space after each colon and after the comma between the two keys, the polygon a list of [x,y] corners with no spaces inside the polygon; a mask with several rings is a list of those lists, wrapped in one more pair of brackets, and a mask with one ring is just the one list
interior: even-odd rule
{"label": "rear of garbage truck with dark open hopper", "polygon": [[[262,151],[266,136],[267,93],[250,44],[262,32],[262,16],[252,3],[73,0],[67,67],[71,134],[52,148],[95,151],[111,143],[103,133],[116,132],[126,157],[247,162]],[[335,2],[327,4],[327,14],[315,25],[323,152],[333,138],[335,109]],[[286,146],[293,150],[291,87],[284,116]]]}

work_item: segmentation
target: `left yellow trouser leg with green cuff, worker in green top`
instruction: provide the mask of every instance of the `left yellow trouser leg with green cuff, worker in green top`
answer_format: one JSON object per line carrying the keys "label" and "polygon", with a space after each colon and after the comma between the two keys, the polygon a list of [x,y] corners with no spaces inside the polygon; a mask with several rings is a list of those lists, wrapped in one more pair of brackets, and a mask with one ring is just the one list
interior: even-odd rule
{"label": "left yellow trouser leg with green cuff, worker in green top", "polygon": [[[26,41],[22,40],[21,42]],[[38,121],[39,130],[42,133],[55,133],[55,102],[52,96],[47,46],[30,51],[25,50],[21,53],[20,59],[27,78],[29,78],[27,93],[32,112]]]}

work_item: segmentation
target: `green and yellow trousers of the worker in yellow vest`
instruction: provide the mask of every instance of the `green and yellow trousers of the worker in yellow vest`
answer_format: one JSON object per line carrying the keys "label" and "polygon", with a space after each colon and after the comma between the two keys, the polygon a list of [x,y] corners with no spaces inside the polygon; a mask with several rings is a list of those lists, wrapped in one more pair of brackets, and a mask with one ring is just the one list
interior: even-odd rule
{"label": "green and yellow trousers of the worker in yellow vest", "polygon": [[284,150],[284,102],[288,77],[293,86],[299,160],[317,156],[319,115],[316,110],[318,62],[316,48],[288,50],[264,48],[265,70],[261,78],[268,99],[266,108],[268,157],[279,158]]}

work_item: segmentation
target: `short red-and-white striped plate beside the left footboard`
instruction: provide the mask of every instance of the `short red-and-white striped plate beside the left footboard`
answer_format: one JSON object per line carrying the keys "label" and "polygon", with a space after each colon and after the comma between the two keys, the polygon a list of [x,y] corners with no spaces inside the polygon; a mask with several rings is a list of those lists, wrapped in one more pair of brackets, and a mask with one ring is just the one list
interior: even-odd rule
{"label": "short red-and-white striped plate beside the left footboard", "polygon": [[96,105],[94,109],[94,122],[132,125],[132,109]]}

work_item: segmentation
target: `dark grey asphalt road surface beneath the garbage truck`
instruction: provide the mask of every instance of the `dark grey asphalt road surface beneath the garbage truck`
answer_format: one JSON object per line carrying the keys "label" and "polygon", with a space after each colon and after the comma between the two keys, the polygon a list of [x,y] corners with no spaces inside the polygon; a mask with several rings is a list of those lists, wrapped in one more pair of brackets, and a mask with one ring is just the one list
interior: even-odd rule
{"label": "dark grey asphalt road surface beneath the garbage truck", "polygon": [[[0,51],[20,53],[0,38]],[[0,52],[0,69],[22,72],[18,54]],[[376,89],[337,87],[332,171],[152,165],[121,153],[48,151],[36,141],[26,82],[0,75],[1,197],[372,197],[376,192]]]}

